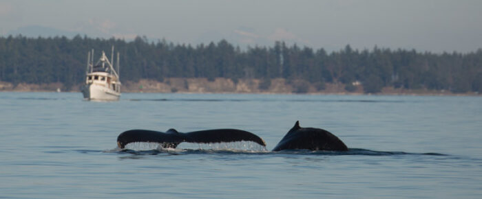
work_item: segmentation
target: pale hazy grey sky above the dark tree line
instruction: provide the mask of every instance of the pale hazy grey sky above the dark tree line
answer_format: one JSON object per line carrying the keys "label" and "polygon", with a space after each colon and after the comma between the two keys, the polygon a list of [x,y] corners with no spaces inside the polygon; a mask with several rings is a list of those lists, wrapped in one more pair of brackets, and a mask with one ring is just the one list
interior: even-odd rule
{"label": "pale hazy grey sky above the dark tree line", "polygon": [[0,0],[0,34],[19,33],[467,52],[482,47],[482,1]]}

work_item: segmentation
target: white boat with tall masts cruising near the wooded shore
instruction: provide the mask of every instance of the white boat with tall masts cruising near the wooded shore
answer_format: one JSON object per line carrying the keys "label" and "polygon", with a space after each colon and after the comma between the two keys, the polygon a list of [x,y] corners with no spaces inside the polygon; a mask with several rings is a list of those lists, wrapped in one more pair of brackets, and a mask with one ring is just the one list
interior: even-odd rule
{"label": "white boat with tall masts cruising near the wooded shore", "polygon": [[[91,57],[92,55],[92,57]],[[111,61],[102,51],[101,58],[94,65],[94,49],[87,54],[87,70],[85,71],[85,85],[82,94],[85,100],[116,101],[121,97],[121,81],[119,79],[119,53],[117,53],[117,71],[112,65],[114,47],[112,47]]]}

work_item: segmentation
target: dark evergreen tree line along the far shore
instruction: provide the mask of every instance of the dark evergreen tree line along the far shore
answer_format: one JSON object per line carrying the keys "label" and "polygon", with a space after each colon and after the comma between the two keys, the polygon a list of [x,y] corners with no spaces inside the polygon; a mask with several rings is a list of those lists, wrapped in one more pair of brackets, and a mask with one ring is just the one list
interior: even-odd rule
{"label": "dark evergreen tree line along the far shore", "polygon": [[[101,50],[110,56],[111,47],[121,54],[121,80],[164,78],[256,78],[269,82],[285,78],[315,85],[329,82],[360,82],[366,93],[377,93],[384,86],[405,89],[447,90],[454,93],[482,92],[482,49],[461,54],[434,54],[415,49],[344,49],[328,53],[286,45],[277,41],[271,47],[240,49],[220,40],[196,46],[115,38],[0,37],[0,81],[19,84],[61,82],[67,89],[84,81],[87,52],[94,59]],[[319,86],[323,89],[323,86]]]}

